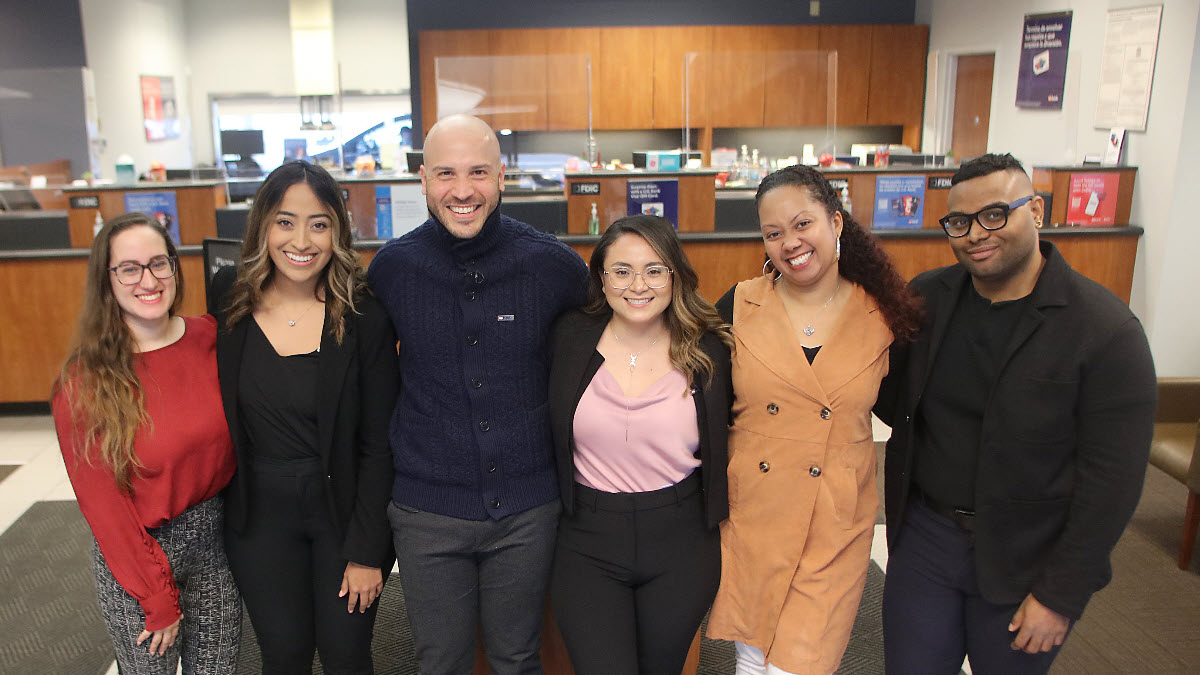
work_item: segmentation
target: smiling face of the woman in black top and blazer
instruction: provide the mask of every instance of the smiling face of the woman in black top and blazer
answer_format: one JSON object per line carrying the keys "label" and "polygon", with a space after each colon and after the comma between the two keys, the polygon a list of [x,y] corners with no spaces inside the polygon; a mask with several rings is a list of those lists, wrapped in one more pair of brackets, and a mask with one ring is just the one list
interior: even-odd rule
{"label": "smiling face of the woman in black top and blazer", "polygon": [[307,183],[296,183],[269,217],[266,251],[275,265],[275,282],[314,288],[334,255],[332,209]]}

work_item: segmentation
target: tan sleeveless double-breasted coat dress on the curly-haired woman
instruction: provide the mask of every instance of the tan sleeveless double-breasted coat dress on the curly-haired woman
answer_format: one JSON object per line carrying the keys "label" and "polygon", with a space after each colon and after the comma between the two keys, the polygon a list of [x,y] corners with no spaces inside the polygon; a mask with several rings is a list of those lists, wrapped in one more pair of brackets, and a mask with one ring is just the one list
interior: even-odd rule
{"label": "tan sleeveless double-breasted coat dress on the curly-haired woman", "polygon": [[730,518],[708,635],[797,674],[838,669],[878,513],[871,406],[892,331],[857,285],[809,365],[770,280],[737,287]]}

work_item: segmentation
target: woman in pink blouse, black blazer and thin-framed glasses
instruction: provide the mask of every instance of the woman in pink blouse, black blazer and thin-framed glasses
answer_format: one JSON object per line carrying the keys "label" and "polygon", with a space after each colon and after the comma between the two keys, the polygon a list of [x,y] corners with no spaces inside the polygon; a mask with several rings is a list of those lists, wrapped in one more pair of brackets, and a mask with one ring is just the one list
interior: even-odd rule
{"label": "woman in pink blouse, black blazer and thin-framed glasses", "polygon": [[671,222],[612,223],[551,339],[551,602],[578,675],[678,674],[716,595],[730,334]]}

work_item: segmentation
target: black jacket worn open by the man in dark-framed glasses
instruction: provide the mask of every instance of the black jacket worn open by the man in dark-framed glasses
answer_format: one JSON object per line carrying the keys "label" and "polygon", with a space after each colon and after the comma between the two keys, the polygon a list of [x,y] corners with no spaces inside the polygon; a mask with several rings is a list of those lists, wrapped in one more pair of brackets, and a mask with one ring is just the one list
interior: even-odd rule
{"label": "black jacket worn open by the man in dark-framed glasses", "polygon": [[[1154,366],[1141,323],[1076,273],[1049,241],[984,412],[976,476],[976,572],[990,602],[1027,593],[1079,619],[1112,575],[1109,555],[1133,515],[1153,435]],[[925,300],[917,341],[892,354],[876,412],[892,425],[884,464],[888,543],[904,530],[914,419],[962,265],[912,281]],[[937,424],[936,419],[925,420]]]}

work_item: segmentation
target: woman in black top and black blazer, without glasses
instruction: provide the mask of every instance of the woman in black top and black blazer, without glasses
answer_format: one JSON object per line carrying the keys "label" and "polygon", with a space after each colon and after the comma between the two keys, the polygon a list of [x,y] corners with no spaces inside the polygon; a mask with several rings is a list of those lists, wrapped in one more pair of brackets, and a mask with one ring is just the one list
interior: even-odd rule
{"label": "woman in black top and black blazer, without glasses", "polygon": [[214,277],[238,471],[226,545],[263,673],[371,673],[394,550],[396,334],[350,249],[341,187],[289,162],[254,198],[242,261]]}

